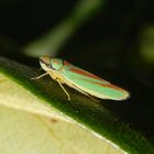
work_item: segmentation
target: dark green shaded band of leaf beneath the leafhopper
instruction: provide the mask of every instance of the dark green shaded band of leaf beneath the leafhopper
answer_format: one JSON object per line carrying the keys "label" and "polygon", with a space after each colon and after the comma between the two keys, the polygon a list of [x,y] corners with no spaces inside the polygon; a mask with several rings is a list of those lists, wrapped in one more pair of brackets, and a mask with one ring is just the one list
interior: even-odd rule
{"label": "dark green shaded band of leaf beneath the leafhopper", "polygon": [[105,100],[96,103],[86,96],[69,89],[73,99],[68,101],[61,87],[51,78],[32,80],[31,77],[37,75],[36,70],[3,57],[0,57],[0,72],[44,100],[46,106],[88,128],[100,138],[113,142],[125,152],[132,154],[153,152],[153,146],[142,134],[124,124],[118,116],[103,107]]}

